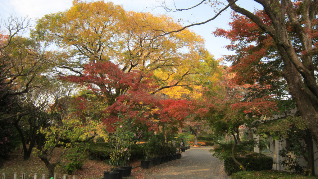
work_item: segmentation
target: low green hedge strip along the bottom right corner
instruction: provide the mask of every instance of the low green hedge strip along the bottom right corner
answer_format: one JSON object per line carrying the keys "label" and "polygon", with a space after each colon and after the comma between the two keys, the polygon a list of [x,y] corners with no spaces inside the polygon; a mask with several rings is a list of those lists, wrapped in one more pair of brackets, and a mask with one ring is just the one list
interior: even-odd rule
{"label": "low green hedge strip along the bottom right corner", "polygon": [[303,176],[288,172],[262,170],[237,172],[231,175],[232,179],[316,179],[315,176]]}

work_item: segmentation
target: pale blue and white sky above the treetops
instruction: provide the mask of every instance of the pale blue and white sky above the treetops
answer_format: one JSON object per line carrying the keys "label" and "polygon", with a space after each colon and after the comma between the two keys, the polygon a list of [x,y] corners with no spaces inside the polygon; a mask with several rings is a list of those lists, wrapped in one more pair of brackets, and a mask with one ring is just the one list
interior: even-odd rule
{"label": "pale blue and white sky above the treetops", "polygon": [[[90,1],[90,0],[88,0]],[[104,0],[108,2],[109,0]],[[120,4],[127,11],[142,11],[152,12],[155,14],[169,14],[174,19],[182,18],[184,24],[196,23],[205,21],[215,15],[213,8],[207,4],[202,4],[190,11],[181,12],[166,12],[160,7],[162,0],[113,0],[114,4]],[[201,2],[201,0],[165,0],[170,7],[189,8]],[[251,0],[239,0],[237,4],[242,4],[242,7],[253,11],[254,7],[259,7]],[[2,20],[7,19],[9,14],[15,14],[18,17],[28,16],[29,18],[41,18],[45,14],[58,11],[65,11],[72,6],[72,0],[0,0],[0,13]],[[223,6],[220,6],[223,8]],[[214,37],[211,34],[217,27],[228,29],[230,22],[230,12],[223,12],[215,20],[205,24],[191,27],[190,29],[202,36],[205,40],[205,46],[214,55],[216,59],[222,55],[233,54],[225,49],[225,45],[230,43],[229,40],[222,37]]]}

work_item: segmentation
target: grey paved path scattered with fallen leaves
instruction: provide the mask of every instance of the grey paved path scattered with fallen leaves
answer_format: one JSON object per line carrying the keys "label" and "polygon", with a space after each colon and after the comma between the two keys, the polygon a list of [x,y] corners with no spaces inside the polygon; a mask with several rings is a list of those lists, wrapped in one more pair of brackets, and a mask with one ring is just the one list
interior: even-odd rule
{"label": "grey paved path scattered with fallen leaves", "polygon": [[134,179],[230,179],[224,172],[224,162],[213,157],[212,147],[191,147],[181,159],[158,166],[132,171]]}

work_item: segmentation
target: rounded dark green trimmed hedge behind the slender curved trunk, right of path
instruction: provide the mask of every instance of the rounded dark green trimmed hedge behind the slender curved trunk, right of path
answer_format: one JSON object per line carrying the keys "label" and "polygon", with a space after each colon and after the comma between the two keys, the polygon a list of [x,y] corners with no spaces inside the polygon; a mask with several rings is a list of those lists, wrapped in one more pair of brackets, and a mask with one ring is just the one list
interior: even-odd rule
{"label": "rounded dark green trimmed hedge behind the slender curved trunk, right of path", "polygon": [[[242,163],[246,171],[271,170],[273,168],[273,158],[259,153],[249,153],[245,156],[237,156],[236,159]],[[224,160],[225,172],[228,175],[241,171],[232,157]]]}

